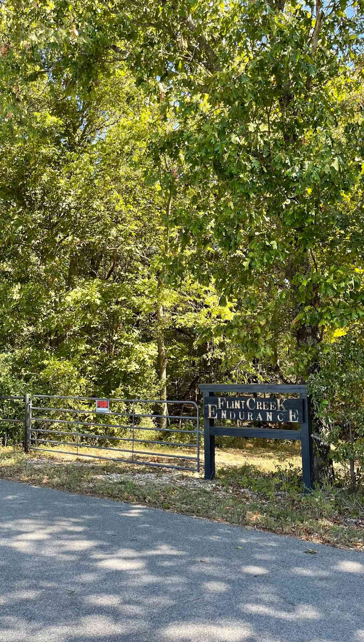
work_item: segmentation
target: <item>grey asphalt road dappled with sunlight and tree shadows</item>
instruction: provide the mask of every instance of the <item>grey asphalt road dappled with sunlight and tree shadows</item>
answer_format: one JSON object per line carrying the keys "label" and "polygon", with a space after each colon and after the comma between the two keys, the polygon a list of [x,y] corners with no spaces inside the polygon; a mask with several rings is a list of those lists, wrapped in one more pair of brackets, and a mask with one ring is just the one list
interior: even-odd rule
{"label": "grey asphalt road dappled with sunlight and tree shadows", "polygon": [[356,551],[0,481],[1,642],[356,642],[363,605]]}

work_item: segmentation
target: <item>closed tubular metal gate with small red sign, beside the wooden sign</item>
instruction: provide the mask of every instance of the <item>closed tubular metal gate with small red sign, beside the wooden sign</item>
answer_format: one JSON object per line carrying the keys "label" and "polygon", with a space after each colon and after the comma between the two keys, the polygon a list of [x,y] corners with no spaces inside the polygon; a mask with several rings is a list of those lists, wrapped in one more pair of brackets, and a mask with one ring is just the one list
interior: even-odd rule
{"label": "closed tubular metal gate with small red sign, beside the wooden sign", "polygon": [[[160,452],[161,446],[170,452]],[[199,407],[194,401],[33,395],[24,447],[199,472]]]}

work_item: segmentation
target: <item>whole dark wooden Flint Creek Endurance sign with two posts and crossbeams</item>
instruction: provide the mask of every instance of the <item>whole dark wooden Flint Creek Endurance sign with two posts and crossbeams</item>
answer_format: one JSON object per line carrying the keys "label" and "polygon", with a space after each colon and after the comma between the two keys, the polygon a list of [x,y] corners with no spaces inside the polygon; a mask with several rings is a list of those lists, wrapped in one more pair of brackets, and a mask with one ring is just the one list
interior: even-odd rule
{"label": "whole dark wooden Flint Creek Endurance sign with two posts and crossbeams", "polygon": [[[301,440],[303,488],[304,492],[310,492],[313,487],[312,439],[307,386],[254,383],[244,386],[204,384],[199,388],[204,395],[205,480],[215,477],[215,435]],[[229,393],[242,396],[231,397]],[[257,393],[264,396],[258,397]],[[292,394],[298,397],[288,396]],[[299,424],[300,429],[218,426],[215,422],[219,420]]]}

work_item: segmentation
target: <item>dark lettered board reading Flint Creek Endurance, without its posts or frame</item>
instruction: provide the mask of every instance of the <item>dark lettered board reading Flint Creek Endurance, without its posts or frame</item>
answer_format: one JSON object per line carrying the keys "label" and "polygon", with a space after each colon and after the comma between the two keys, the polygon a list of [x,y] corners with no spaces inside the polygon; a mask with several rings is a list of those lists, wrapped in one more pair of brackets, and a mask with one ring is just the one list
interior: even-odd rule
{"label": "dark lettered board reading Flint Creek Endurance, without its posts or frame", "polygon": [[279,423],[301,423],[303,421],[302,399],[208,397],[204,412],[206,419]]}

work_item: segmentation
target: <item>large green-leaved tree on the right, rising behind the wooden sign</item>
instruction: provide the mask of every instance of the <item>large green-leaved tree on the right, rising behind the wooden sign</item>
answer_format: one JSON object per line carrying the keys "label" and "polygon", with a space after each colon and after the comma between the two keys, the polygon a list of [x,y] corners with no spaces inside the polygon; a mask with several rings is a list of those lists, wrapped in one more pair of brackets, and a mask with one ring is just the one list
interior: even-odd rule
{"label": "large green-leaved tree on the right, rising behind the wooden sign", "polygon": [[[185,16],[168,6],[178,38],[166,30],[161,110],[178,126],[156,149],[183,155],[191,194],[174,216],[187,250],[176,272],[212,273],[235,303],[240,347],[283,380],[306,379],[327,332],[363,318],[345,212],[361,179],[363,7],[350,19],[320,2],[194,3]],[[316,446],[318,475],[329,448]]]}

